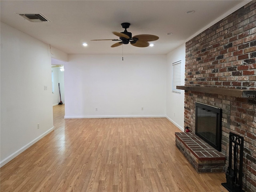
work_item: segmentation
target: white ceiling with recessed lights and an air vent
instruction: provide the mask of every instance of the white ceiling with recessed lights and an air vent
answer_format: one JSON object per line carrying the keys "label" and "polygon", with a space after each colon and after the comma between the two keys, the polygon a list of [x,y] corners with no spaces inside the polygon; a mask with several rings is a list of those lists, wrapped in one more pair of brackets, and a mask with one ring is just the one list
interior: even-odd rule
{"label": "white ceiling with recessed lights and an air vent", "polygon": [[[1,22],[67,54],[167,54],[249,1],[241,0],[1,0]],[[194,10],[194,14],[186,11]],[[40,13],[50,22],[33,23],[16,13]],[[153,34],[154,47],[111,48],[122,22],[132,35]],[[213,23],[212,23],[213,24]],[[172,35],[167,33],[172,32]],[[88,43],[87,47],[82,43]]]}

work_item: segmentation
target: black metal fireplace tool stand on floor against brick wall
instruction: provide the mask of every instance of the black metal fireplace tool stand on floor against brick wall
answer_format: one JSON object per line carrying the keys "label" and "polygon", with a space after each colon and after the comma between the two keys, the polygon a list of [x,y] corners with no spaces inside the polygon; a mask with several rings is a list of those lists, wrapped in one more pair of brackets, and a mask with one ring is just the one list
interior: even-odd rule
{"label": "black metal fireplace tool stand on floor against brick wall", "polygon": [[[238,156],[239,151],[240,153]],[[244,138],[230,132],[229,133],[228,169],[226,171],[227,182],[222,183],[222,185],[229,192],[244,192],[244,190],[242,190],[243,156],[244,156]]]}

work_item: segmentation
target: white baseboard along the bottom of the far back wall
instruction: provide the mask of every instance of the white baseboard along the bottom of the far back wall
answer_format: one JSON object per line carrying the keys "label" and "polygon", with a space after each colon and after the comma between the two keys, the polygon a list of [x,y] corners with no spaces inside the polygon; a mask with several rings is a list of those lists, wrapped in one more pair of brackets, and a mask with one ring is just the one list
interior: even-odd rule
{"label": "white baseboard along the bottom of the far back wall", "polygon": [[65,119],[85,119],[85,118],[160,118],[165,115],[108,115],[108,116],[64,116]]}

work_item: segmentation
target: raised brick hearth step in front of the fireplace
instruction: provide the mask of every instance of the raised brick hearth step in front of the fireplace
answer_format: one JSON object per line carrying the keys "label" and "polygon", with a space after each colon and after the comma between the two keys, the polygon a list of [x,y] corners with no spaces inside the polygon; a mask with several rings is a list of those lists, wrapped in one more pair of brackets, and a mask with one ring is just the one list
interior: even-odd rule
{"label": "raised brick hearth step in front of the fireplace", "polygon": [[224,172],[225,155],[204,142],[196,134],[175,133],[176,146],[198,173]]}

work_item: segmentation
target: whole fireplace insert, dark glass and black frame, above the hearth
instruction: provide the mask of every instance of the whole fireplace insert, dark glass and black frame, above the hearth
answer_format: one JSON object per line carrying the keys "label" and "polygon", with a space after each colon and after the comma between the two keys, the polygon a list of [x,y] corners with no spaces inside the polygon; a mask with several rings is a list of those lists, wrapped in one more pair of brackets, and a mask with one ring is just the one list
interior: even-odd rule
{"label": "whole fireplace insert, dark glass and black frame, above the hearth", "polygon": [[196,102],[195,134],[218,151],[221,151],[221,121],[221,108]]}

